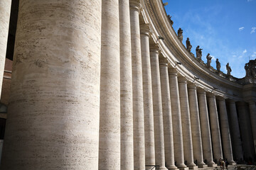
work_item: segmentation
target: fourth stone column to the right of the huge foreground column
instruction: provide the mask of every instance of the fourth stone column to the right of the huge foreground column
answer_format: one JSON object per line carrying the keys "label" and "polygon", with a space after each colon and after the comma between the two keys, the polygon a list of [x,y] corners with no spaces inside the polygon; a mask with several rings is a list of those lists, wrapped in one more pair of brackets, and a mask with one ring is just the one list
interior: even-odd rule
{"label": "fourth stone column to the right of the huge foreground column", "polygon": [[[151,81],[151,65],[149,53],[149,26],[141,26],[142,42],[142,74],[143,74],[143,99],[144,99],[144,126],[145,126],[145,162],[146,165],[154,165],[154,111]],[[147,166],[146,169],[152,167]]]}

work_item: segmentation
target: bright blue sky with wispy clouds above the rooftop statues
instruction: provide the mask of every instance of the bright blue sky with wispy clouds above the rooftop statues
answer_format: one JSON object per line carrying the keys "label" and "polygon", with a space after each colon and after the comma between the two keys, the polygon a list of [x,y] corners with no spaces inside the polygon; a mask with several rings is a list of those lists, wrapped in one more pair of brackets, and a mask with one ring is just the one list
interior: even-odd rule
{"label": "bright blue sky with wispy clouds above the rooftop statues", "polygon": [[213,56],[226,73],[229,62],[234,77],[245,77],[245,63],[256,59],[256,0],[163,0],[166,13],[174,21],[174,30],[183,29],[183,44],[191,41],[203,48],[202,60]]}

